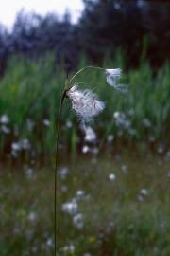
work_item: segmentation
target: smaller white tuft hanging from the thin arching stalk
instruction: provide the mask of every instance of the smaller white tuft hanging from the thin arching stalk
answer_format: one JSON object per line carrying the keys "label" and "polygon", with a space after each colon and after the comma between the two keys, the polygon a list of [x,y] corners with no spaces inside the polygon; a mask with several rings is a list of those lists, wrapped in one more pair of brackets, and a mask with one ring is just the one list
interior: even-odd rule
{"label": "smaller white tuft hanging from the thin arching stalk", "polygon": [[120,68],[106,69],[106,80],[110,84],[110,86],[114,87],[116,90],[126,93],[126,85],[117,83],[121,77],[121,73],[122,70]]}

